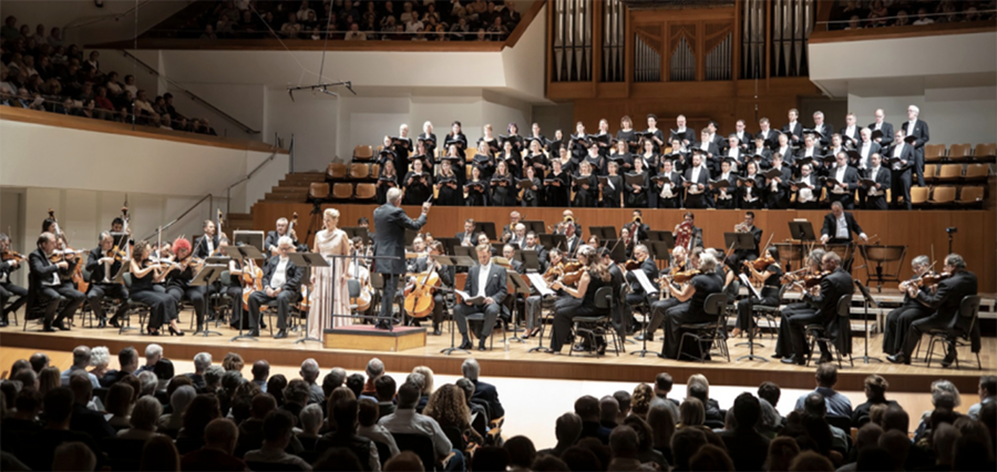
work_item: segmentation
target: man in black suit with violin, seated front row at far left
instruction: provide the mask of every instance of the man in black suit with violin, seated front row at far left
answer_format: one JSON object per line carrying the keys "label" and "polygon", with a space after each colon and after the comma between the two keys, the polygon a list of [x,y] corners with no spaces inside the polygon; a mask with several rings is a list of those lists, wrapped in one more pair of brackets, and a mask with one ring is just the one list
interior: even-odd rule
{"label": "man in black suit with violin, seated front row at far left", "polygon": [[[38,249],[28,255],[28,266],[31,269],[28,277],[28,309],[30,311],[35,304],[44,307],[42,331],[45,332],[53,332],[56,328],[69,331],[63,320],[72,319],[73,314],[85,300],[84,295],[73,287],[72,281],[63,281],[60,277],[60,271],[68,274],[79,264],[76,256],[66,254],[62,260],[54,264],[49,260],[55,252],[56,244],[55,235],[42,233],[38,237]],[[56,316],[60,297],[65,297],[66,304]]]}

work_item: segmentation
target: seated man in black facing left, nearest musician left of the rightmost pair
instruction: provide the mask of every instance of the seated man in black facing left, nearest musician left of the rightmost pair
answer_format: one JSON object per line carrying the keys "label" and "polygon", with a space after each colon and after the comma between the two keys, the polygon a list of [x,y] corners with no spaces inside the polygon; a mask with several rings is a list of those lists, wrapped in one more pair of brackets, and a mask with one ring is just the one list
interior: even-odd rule
{"label": "seated man in black facing left, nearest musician left of the rightmost pair", "polygon": [[[839,338],[847,336],[849,326],[839,326],[837,301],[841,297],[852,294],[852,276],[841,268],[841,257],[829,252],[821,259],[821,269],[831,274],[821,279],[821,288],[819,295],[804,294],[803,301],[810,304],[816,311],[813,314],[804,314],[794,316],[789,319],[790,339],[793,345],[793,356],[782,359],[782,363],[796,363],[803,366],[806,359],[806,340],[803,338],[803,328],[806,325],[818,324],[824,327],[828,336]],[[835,342],[843,346],[843,342]],[[831,361],[831,351],[825,342],[820,342],[821,360],[820,362]]]}

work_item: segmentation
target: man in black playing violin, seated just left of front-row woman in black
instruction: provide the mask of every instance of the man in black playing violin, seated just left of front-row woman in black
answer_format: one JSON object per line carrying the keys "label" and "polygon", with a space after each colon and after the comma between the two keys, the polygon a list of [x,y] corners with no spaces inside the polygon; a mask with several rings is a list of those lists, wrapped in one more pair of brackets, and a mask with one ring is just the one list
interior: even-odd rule
{"label": "man in black playing violin, seated just left of front-row woman in black", "polygon": [[[103,300],[105,297],[119,300],[120,305],[114,316],[111,317],[111,326],[120,327],[119,320],[129,312],[129,289],[123,284],[116,284],[114,276],[121,271],[122,259],[110,254],[114,248],[114,238],[110,233],[101,233],[100,246],[90,252],[86,259],[86,271],[90,273],[90,290],[86,291],[86,301],[93,314],[100,320],[99,327],[107,325],[107,314],[104,312]],[[123,257],[123,256],[122,256]],[[127,263],[127,260],[124,260]]]}

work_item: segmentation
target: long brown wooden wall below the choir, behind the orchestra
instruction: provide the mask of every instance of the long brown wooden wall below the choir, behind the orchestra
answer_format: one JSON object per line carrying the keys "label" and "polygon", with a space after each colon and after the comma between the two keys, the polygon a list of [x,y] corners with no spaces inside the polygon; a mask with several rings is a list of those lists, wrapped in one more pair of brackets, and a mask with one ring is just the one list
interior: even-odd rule
{"label": "long brown wooden wall below the choir, behind the orchestra", "polygon": [[[341,226],[354,226],[361,216],[368,217],[373,224],[374,205],[325,205],[336,207],[340,212]],[[419,215],[419,208],[404,207],[412,217]],[[273,229],[277,218],[289,217],[292,212],[301,215],[298,226],[298,235],[305,236],[308,229],[308,214],[311,206],[308,204],[281,204],[261,202],[254,206],[254,224],[257,229]],[[515,208],[515,207],[433,207],[429,220],[423,230],[434,235],[453,237],[463,230],[463,222],[466,218],[475,220],[494,222],[501,227],[508,223],[508,214],[517,211],[523,219],[544,220],[553,225],[562,220],[564,208]],[[573,208],[575,219],[582,225],[585,235],[589,226],[615,226],[619,228],[633,219],[629,209],[600,209],[600,208]],[[645,209],[644,220],[652,229],[670,230],[681,222],[683,209]],[[723,233],[732,230],[733,226],[743,220],[741,211],[700,209],[693,212],[696,226],[703,230],[703,243],[709,247],[723,246]],[[789,238],[788,223],[795,218],[809,219],[814,232],[820,233],[826,211],[756,211],[756,225],[765,233],[762,243],[772,236],[772,243],[782,243]],[[903,277],[909,277],[909,261],[916,255],[931,257],[934,248],[936,268],[942,268],[942,263],[948,250],[948,236],[945,228],[955,226],[958,233],[954,237],[953,250],[963,255],[969,264],[969,269],[979,277],[980,291],[997,291],[997,246],[995,246],[995,233],[997,233],[997,214],[987,211],[923,211],[923,212],[854,212],[859,224],[870,236],[877,235],[882,244],[906,245],[907,258],[904,261]],[[317,223],[318,224],[318,223]],[[316,227],[316,229],[319,229]],[[377,230],[377,228],[374,228]],[[859,268],[863,263],[856,256],[854,274],[865,279],[865,269]]]}

